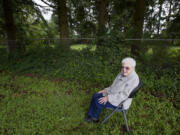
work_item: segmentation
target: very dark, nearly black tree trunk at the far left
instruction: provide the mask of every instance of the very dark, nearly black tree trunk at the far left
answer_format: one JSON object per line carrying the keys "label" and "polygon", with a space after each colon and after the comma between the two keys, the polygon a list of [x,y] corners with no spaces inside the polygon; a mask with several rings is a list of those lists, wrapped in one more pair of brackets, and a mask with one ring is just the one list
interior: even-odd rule
{"label": "very dark, nearly black tree trunk at the far left", "polygon": [[5,25],[8,37],[8,51],[13,54],[16,51],[16,26],[13,18],[13,3],[11,0],[3,0]]}

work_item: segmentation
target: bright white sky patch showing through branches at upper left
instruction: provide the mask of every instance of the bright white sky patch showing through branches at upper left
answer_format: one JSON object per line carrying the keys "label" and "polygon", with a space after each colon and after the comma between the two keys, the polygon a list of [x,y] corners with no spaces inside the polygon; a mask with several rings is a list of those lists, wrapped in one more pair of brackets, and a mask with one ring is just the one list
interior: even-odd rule
{"label": "bright white sky patch showing through branches at upper left", "polygon": [[[41,0],[33,0],[35,3],[42,5],[42,6],[48,6],[45,3],[43,3]],[[40,8],[40,7],[39,7]],[[50,7],[49,7],[50,8]],[[41,13],[43,14],[44,18],[46,20],[50,20],[51,19],[51,15],[52,15],[52,11],[46,11],[44,12],[42,8],[41,9]]]}

